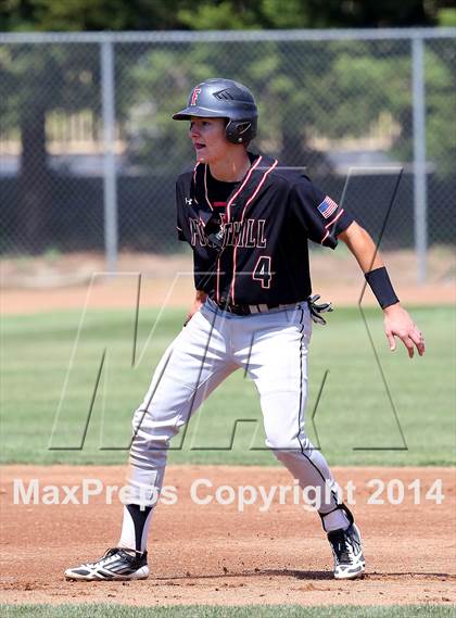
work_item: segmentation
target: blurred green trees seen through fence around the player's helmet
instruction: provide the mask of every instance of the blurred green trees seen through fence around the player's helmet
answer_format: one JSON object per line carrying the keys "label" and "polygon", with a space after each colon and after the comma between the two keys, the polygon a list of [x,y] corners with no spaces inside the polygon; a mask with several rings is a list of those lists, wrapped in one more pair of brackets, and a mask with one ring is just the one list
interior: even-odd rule
{"label": "blurred green trees seen through fence around the player's helmet", "polygon": [[[456,89],[452,47],[430,48],[426,62],[428,150],[430,157],[441,159],[443,175],[451,173],[449,153],[455,148],[448,130],[454,109],[449,101]],[[126,81],[117,101],[129,121],[125,126],[130,161],[161,172],[169,167],[172,157],[177,167],[183,165],[190,150],[182,143],[182,127],[170,119],[170,113],[185,105],[194,84],[216,76],[249,85],[259,108],[257,142],[261,150],[278,154],[282,164],[306,164],[313,174],[325,175],[328,162],[309,146],[315,133],[333,139],[359,138],[387,115],[397,127],[390,156],[411,160],[409,42],[351,40],[143,47],[143,54],[124,73]]]}

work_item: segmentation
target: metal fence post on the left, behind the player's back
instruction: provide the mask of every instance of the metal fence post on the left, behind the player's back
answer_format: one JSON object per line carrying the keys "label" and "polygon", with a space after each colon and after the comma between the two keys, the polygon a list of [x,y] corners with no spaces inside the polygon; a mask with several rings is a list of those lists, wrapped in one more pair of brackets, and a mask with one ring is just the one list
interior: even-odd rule
{"label": "metal fence post on the left, behind the player's back", "polygon": [[103,119],[103,202],[106,270],[117,268],[117,185],[115,169],[115,104],[113,42],[100,43],[101,101]]}

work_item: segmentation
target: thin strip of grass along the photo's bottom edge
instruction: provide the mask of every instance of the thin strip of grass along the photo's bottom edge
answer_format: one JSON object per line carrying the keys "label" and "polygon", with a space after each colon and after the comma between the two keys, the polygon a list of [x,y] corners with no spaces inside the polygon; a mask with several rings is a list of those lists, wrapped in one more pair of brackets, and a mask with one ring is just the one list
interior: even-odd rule
{"label": "thin strip of grass along the photo's bottom edge", "polygon": [[416,618],[417,616],[453,617],[455,606],[390,605],[318,606],[248,605],[245,607],[211,607],[187,605],[180,607],[131,607],[122,605],[0,605],[3,618]]}

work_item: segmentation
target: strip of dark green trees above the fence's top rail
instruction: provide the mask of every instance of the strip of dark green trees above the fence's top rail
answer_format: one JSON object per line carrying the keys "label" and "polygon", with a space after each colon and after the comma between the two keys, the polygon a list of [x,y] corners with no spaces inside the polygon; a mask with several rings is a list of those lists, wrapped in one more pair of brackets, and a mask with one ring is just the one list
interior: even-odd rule
{"label": "strip of dark green trees above the fence's top rail", "polygon": [[454,0],[3,0],[0,30],[432,26],[454,12]]}

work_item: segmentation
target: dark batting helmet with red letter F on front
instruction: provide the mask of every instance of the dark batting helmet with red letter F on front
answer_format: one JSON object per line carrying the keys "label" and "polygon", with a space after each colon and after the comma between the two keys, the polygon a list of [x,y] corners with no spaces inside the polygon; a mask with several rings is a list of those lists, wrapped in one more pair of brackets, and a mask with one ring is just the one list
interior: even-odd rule
{"label": "dark batting helmet with red letter F on front", "polygon": [[226,136],[232,143],[249,143],[256,135],[255,99],[249,88],[232,79],[206,79],[192,88],[187,108],[173,118],[188,121],[190,116],[228,118]]}

